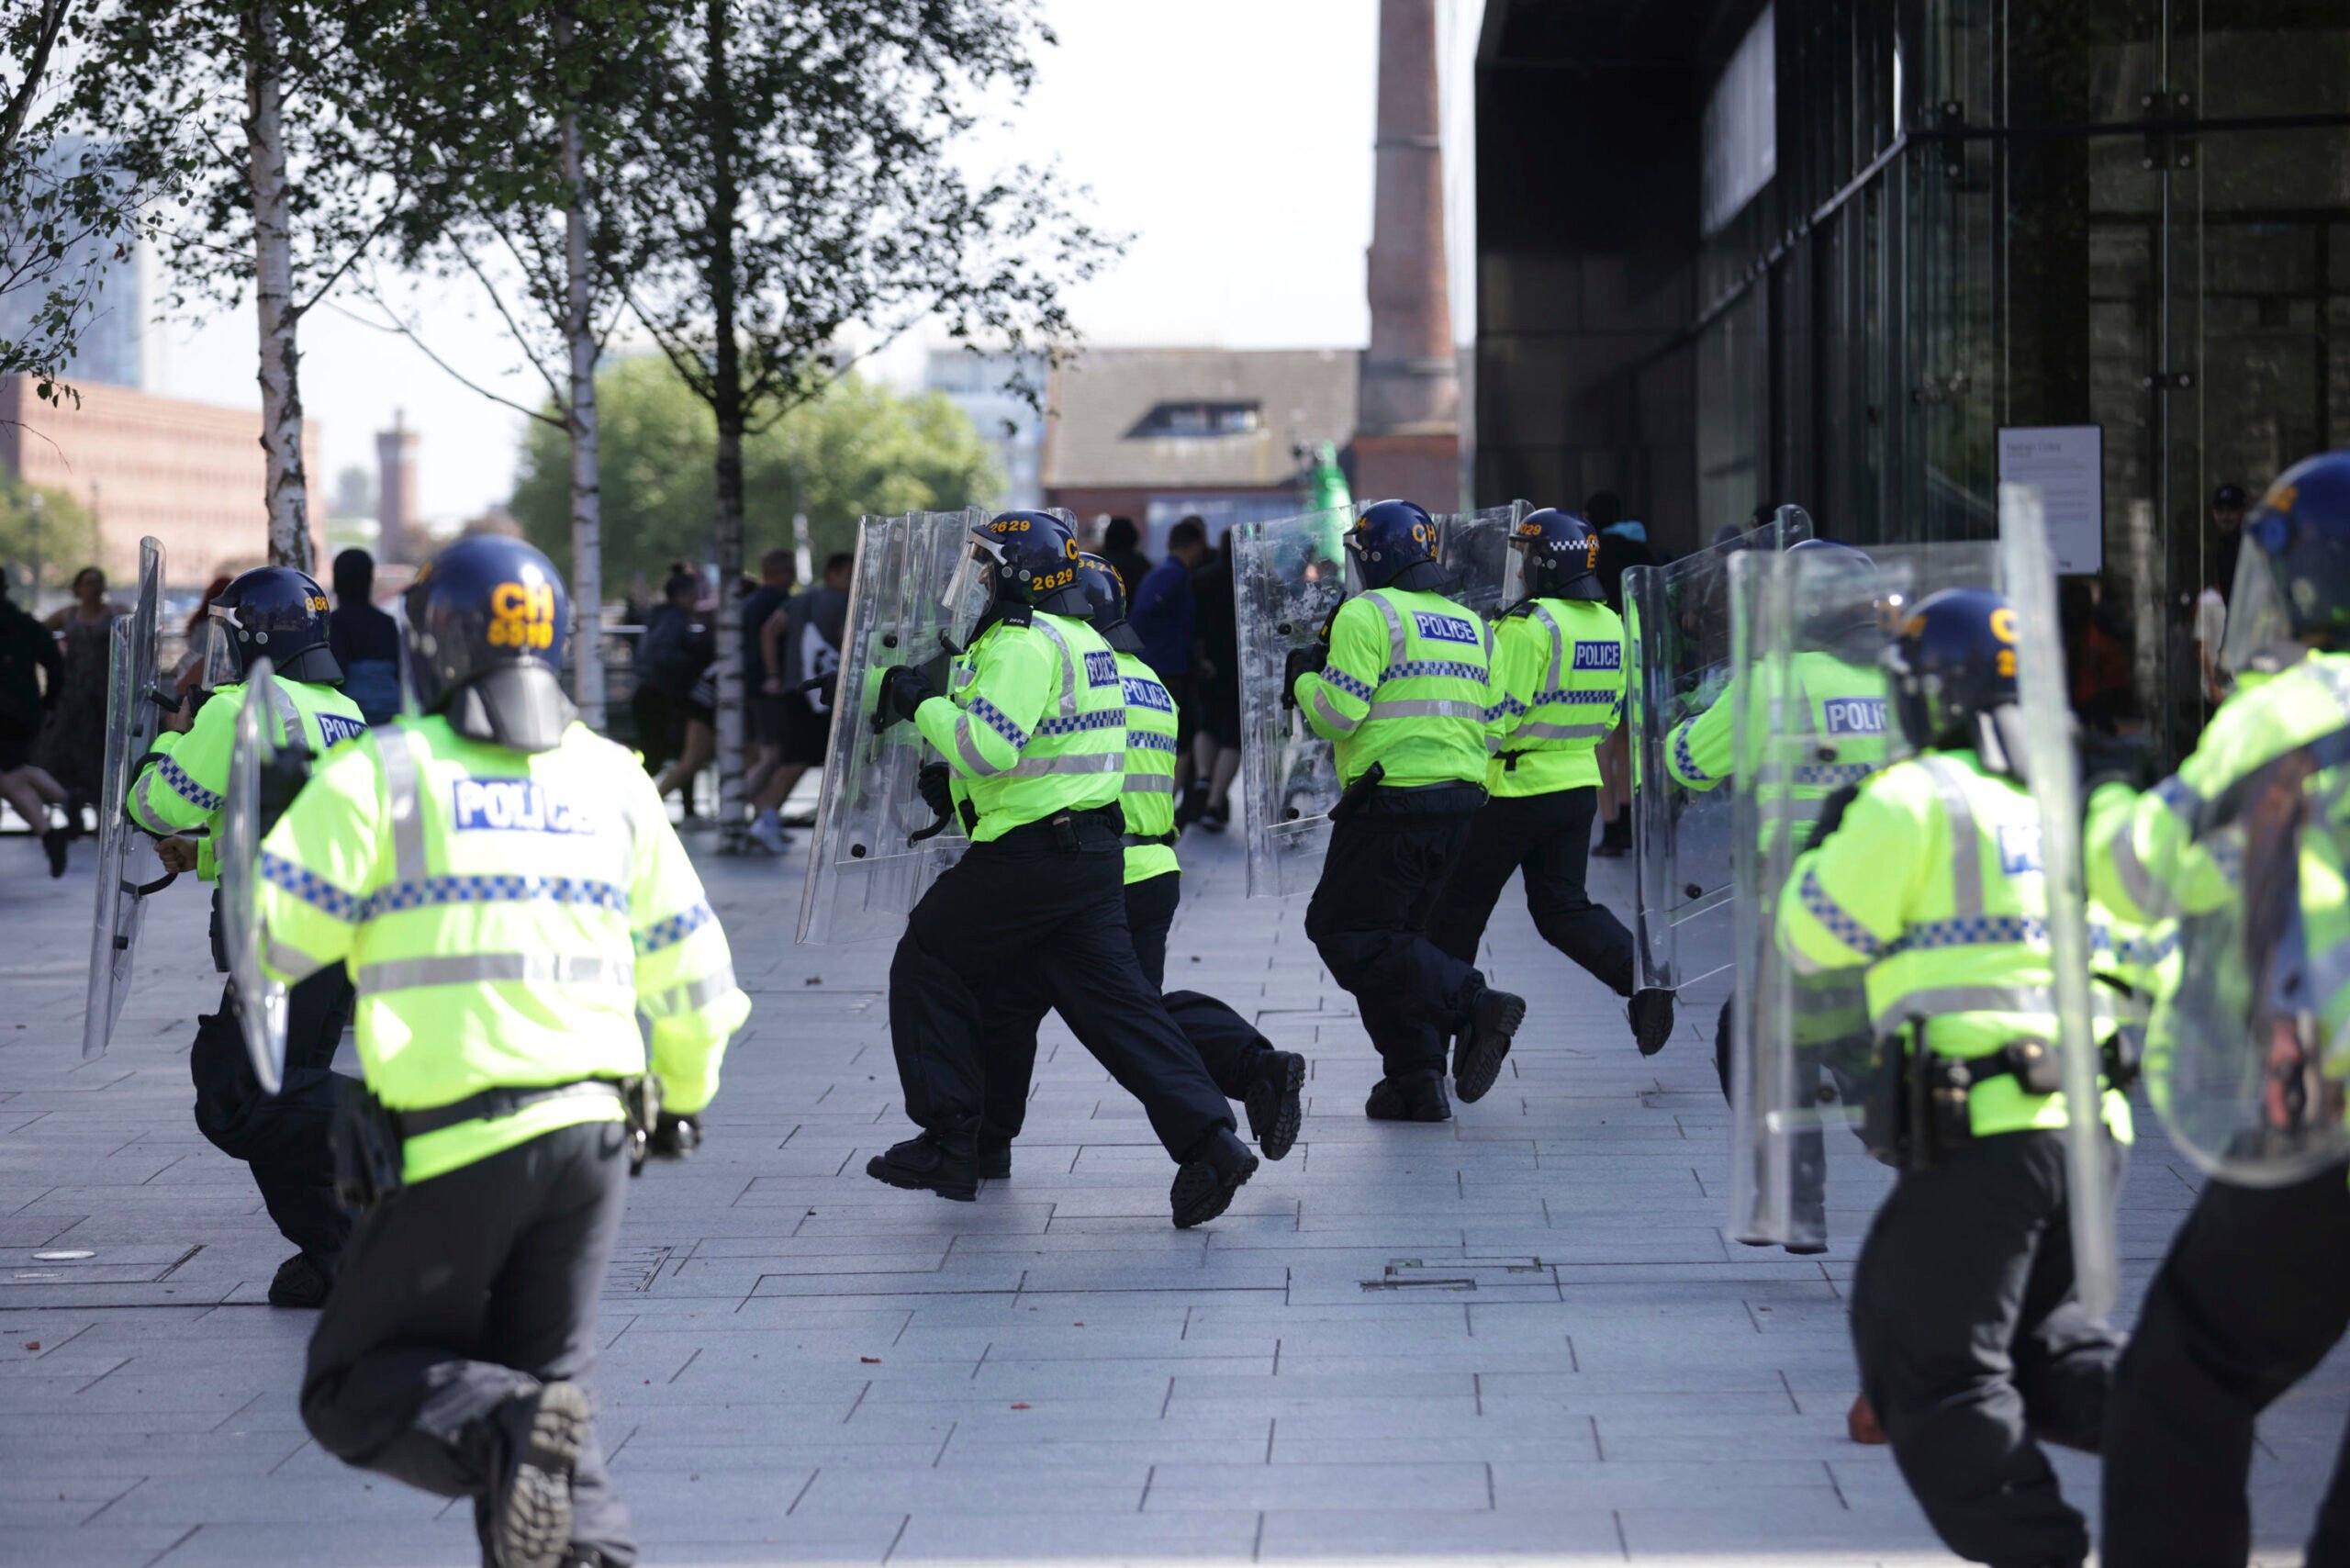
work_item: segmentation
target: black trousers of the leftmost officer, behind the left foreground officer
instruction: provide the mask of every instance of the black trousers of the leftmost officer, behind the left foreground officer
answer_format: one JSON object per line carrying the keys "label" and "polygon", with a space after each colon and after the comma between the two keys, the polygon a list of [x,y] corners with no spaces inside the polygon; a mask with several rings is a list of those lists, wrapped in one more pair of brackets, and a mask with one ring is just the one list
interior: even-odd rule
{"label": "black trousers of the leftmost officer, behind the left foreground officer", "polygon": [[[219,905],[214,905],[219,954]],[[287,1241],[331,1260],[350,1237],[350,1211],[334,1197],[334,1103],[350,1079],[334,1070],[357,992],[350,973],[329,964],[287,994],[287,1065],[275,1095],[261,1093],[254,1058],[237,1027],[235,987],[221,987],[221,1011],[195,1016],[188,1077],[195,1079],[195,1126],[216,1150],[254,1171],[261,1201]]]}

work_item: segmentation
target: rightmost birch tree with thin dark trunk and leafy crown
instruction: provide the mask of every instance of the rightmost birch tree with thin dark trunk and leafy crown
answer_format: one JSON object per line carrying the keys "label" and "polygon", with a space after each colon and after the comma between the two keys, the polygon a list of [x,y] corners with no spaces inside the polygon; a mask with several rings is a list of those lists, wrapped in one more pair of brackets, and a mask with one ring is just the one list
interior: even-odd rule
{"label": "rightmost birch tree with thin dark trunk and leafy crown", "polygon": [[1114,249],[1034,169],[973,181],[952,148],[1050,45],[1029,0],[700,0],[642,106],[623,195],[630,306],[714,418],[721,820],[743,745],[745,442],[846,364],[938,317],[959,341],[1060,348],[1060,289]]}

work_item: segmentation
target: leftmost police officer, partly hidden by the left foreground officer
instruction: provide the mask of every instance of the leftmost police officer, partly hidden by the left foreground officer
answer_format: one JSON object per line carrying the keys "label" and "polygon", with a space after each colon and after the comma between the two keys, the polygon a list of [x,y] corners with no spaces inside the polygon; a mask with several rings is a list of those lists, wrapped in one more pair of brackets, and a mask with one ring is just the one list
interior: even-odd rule
{"label": "leftmost police officer, partly hidden by the left foreground officer", "polygon": [[[244,705],[244,672],[268,658],[277,679],[277,741],[315,755],[367,731],[360,705],[343,696],[343,670],[327,649],[324,590],[291,567],[258,567],[228,583],[204,611],[202,686],[209,693],[186,733],[155,736],[155,752],[129,790],[129,818],[162,839],[167,870],[195,870],[207,882],[212,835],[228,790],[228,752]],[[143,701],[143,698],[141,698]],[[221,954],[221,910],[212,912],[214,961]],[[270,1220],[301,1251],[270,1279],[273,1307],[317,1307],[327,1300],[336,1258],[350,1234],[350,1213],[334,1197],[334,1154],[327,1131],[338,1086],[334,1051],[350,1020],[350,980],[317,973],[287,999],[287,1063],[280,1093],[261,1091],[237,1025],[235,985],[221,987],[221,1011],[197,1013],[188,1072],[195,1079],[195,1126],[233,1159],[247,1161]]]}

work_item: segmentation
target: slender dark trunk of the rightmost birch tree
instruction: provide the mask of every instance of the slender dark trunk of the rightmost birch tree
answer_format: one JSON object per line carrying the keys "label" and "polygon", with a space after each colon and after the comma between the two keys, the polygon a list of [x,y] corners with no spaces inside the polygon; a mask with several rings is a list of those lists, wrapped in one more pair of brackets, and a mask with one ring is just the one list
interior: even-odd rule
{"label": "slender dark trunk of the rightmost birch tree", "polygon": [[712,364],[712,414],[719,425],[717,463],[717,719],[719,719],[719,842],[743,837],[743,348],[736,341],[736,181],[733,85],[728,80],[728,0],[707,0],[710,31],[710,327],[717,343]]}

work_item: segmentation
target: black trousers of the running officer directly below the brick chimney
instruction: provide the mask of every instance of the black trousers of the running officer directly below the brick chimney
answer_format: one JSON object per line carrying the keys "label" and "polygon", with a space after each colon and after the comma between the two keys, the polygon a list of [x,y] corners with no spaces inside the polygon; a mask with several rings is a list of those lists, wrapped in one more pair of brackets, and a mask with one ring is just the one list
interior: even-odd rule
{"label": "black trousers of the running officer directly below the brick chimney", "polygon": [[1485,978],[1429,940],[1429,912],[1485,790],[1372,790],[1330,830],[1307,938],[1363,1013],[1386,1077],[1443,1072],[1445,1039]]}

